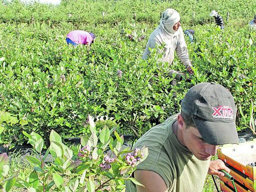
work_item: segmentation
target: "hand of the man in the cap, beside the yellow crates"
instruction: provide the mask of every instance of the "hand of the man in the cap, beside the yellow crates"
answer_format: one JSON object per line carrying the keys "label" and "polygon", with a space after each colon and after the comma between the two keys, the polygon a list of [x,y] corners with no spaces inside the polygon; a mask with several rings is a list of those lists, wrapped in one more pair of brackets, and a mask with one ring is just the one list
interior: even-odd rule
{"label": "hand of the man in the cap, beside the yellow crates", "polygon": [[230,169],[220,159],[210,161],[208,174],[217,175],[217,176],[225,176],[224,173],[219,171],[221,169],[224,169],[225,171],[227,171],[227,173],[230,173]]}

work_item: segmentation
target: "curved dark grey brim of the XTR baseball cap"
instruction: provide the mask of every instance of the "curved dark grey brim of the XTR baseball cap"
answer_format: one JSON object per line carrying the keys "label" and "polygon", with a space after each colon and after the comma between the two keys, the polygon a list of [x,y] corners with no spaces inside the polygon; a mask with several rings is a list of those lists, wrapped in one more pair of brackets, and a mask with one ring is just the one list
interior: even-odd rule
{"label": "curved dark grey brim of the XTR baseball cap", "polygon": [[193,119],[201,136],[211,145],[239,144],[234,122],[209,122]]}

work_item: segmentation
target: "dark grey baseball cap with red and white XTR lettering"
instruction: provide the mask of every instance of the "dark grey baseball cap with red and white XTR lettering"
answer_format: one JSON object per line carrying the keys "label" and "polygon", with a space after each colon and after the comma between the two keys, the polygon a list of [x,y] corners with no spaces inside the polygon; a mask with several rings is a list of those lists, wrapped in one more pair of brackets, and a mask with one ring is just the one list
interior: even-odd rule
{"label": "dark grey baseball cap with red and white XTR lettering", "polygon": [[223,86],[211,82],[191,87],[181,102],[181,110],[192,117],[209,144],[239,143],[235,126],[237,108],[233,96]]}

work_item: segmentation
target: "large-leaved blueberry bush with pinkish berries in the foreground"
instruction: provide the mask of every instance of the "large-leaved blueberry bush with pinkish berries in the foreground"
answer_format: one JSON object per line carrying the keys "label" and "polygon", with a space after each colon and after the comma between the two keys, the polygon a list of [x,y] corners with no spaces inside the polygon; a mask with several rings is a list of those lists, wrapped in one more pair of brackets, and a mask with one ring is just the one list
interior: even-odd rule
{"label": "large-leaved blueberry bush with pinkish berries in the foreground", "polygon": [[[145,160],[148,154],[147,147],[136,149],[144,155],[135,164],[129,165],[126,161],[126,155],[131,155],[129,147],[121,149],[124,139],[116,132],[117,137],[114,140],[110,134],[108,126],[102,130],[96,131],[95,124],[92,121],[87,125],[92,130],[88,136],[86,145],[67,147],[62,143],[61,136],[54,130],[50,134],[50,147],[45,155],[38,150],[38,141],[42,137],[35,132],[24,135],[28,137],[28,142],[35,149],[34,156],[27,156],[26,159],[33,166],[29,177],[23,173],[14,173],[7,178],[9,165],[6,154],[0,155],[0,189],[4,188],[10,191],[13,186],[23,188],[28,191],[125,191],[125,180],[139,184],[131,179],[131,173],[136,170],[136,165]],[[98,142],[100,140],[100,142]],[[106,151],[107,148],[111,151]],[[40,148],[41,149],[41,148]],[[135,151],[136,151],[135,150]],[[51,154],[52,162],[46,163],[46,157]],[[138,156],[136,154],[136,156]],[[111,185],[111,189],[109,186]]]}

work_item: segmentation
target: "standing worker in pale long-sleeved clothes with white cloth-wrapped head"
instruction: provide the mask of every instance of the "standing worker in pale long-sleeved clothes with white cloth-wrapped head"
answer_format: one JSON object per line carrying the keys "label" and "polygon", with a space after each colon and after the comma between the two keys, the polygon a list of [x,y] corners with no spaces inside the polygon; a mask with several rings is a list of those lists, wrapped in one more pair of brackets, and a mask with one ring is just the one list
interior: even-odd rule
{"label": "standing worker in pale long-sleeved clothes with white cloth-wrapped head", "polygon": [[[157,48],[157,52],[164,53],[162,61],[168,62],[171,65],[174,60],[174,51],[176,50],[180,61],[186,67],[189,74],[192,75],[192,65],[189,60],[183,29],[180,26],[180,14],[175,9],[166,9],[161,15],[159,26],[151,33],[147,41],[146,50],[142,58],[146,59],[150,56],[149,48]],[[164,46],[164,48],[160,49],[161,46]],[[174,72],[174,70],[170,71],[170,73]]]}

